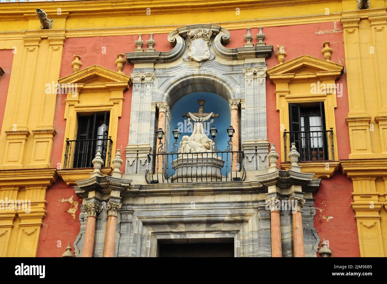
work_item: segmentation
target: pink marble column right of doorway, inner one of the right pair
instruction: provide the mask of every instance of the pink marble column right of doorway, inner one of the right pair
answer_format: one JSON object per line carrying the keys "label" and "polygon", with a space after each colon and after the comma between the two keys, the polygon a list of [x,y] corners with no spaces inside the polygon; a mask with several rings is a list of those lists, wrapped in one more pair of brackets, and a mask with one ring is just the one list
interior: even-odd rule
{"label": "pink marble column right of doorway, inner one of the right pair", "polygon": [[282,257],[281,220],[279,210],[281,200],[278,197],[266,200],[270,208],[270,234],[271,234],[271,256]]}

